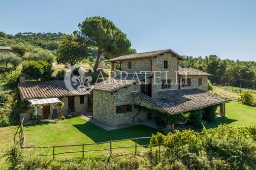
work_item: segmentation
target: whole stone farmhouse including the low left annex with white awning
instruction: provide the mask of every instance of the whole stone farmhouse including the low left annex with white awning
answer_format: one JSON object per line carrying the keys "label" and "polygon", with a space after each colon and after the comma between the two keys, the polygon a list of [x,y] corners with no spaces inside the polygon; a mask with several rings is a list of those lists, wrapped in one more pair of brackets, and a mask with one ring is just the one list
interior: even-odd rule
{"label": "whole stone farmhouse including the low left annex with white awning", "polygon": [[[93,119],[109,126],[139,123],[160,115],[140,111],[135,106],[158,110],[170,115],[185,113],[230,100],[207,92],[211,74],[193,68],[180,68],[185,58],[170,49],[137,53],[105,60],[111,64],[112,78],[91,85],[93,90],[69,91],[64,81],[25,82],[20,78],[19,91],[27,108],[36,112],[22,113],[28,121],[32,114],[49,119],[72,113],[92,112]],[[119,65],[121,71],[114,69]],[[116,76],[117,75],[117,76]]]}

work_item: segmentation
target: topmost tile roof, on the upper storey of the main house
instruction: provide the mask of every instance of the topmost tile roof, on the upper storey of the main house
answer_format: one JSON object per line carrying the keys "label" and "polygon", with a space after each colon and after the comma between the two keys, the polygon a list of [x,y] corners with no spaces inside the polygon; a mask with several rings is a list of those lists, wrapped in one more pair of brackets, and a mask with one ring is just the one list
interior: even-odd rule
{"label": "topmost tile roof, on the upper storey of the main house", "polygon": [[185,60],[184,57],[181,57],[171,49],[166,49],[166,50],[158,50],[158,51],[152,51],[152,52],[144,52],[144,53],[136,53],[136,54],[131,54],[131,55],[125,55],[125,56],[120,56],[116,57],[113,59],[105,60],[106,62],[113,62],[113,61],[121,61],[121,60],[126,60],[126,59],[135,59],[135,58],[147,58],[147,57],[155,57],[157,55],[163,54],[163,53],[172,53],[176,55],[177,57],[181,58],[182,60]]}

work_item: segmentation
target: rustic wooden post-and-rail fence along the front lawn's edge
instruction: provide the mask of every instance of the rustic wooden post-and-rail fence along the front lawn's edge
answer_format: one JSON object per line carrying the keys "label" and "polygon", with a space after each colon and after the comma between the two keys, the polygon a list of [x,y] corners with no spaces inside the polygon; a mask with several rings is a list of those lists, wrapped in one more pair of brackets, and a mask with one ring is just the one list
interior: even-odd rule
{"label": "rustic wooden post-and-rail fence along the front lawn's edge", "polygon": [[[145,147],[145,146],[149,146],[150,145],[150,144],[138,145],[137,141],[141,140],[141,139],[151,139],[151,138],[152,137],[142,137],[142,138],[131,138],[131,139],[124,139],[124,140],[107,141],[107,142],[86,143],[86,144],[73,144],[73,145],[60,145],[60,146],[23,146],[23,148],[28,148],[28,149],[52,148],[53,149],[52,150],[52,154],[38,155],[38,156],[53,156],[53,159],[55,159],[55,155],[61,155],[61,154],[66,154],[66,153],[82,153],[82,157],[84,157],[84,153],[85,152],[104,151],[104,150],[110,150],[110,156],[111,156],[113,149],[121,149],[121,148],[135,148],[135,153],[134,154],[136,155],[138,147]],[[134,146],[112,147],[112,143],[113,142],[122,142],[122,141],[129,141],[129,140],[134,140],[135,141],[135,145]],[[103,143],[109,143],[110,147],[109,148],[104,148],[104,149],[85,150],[85,146],[98,145],[98,144],[103,144]],[[159,145],[159,151],[160,151],[161,143],[159,143],[158,145]],[[58,147],[73,147],[73,146],[81,146],[81,150],[80,151],[69,151],[69,152],[55,153],[55,148],[58,148]]]}

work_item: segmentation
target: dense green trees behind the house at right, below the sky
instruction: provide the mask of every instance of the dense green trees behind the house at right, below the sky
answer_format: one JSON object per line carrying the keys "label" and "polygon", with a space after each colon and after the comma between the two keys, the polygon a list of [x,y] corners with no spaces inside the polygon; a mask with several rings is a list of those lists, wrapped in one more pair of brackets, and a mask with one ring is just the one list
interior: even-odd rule
{"label": "dense green trees behind the house at right, below the sky", "polygon": [[256,62],[221,59],[216,55],[206,57],[184,56],[180,62],[184,68],[195,68],[213,75],[211,83],[256,89]]}

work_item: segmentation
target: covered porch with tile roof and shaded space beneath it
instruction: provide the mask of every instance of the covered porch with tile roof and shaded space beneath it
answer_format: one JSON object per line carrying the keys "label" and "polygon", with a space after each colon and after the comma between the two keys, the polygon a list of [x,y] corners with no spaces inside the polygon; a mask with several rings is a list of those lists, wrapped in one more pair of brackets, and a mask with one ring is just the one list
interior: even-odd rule
{"label": "covered porch with tile roof and shaded space beneath it", "polygon": [[[174,129],[183,130],[186,129],[188,125],[186,120],[178,118],[176,118],[177,120],[175,121],[173,120],[173,123],[166,123],[162,116],[164,116],[165,119],[166,115],[179,117],[178,115],[181,113],[192,113],[196,110],[200,110],[201,115],[203,115],[205,112],[208,112],[207,108],[212,106],[215,106],[215,111],[217,106],[219,106],[219,115],[224,116],[225,103],[230,101],[227,98],[196,88],[160,91],[158,99],[153,99],[138,91],[134,91],[132,94],[135,96],[135,106],[137,106],[139,110],[159,114],[159,117],[155,117],[154,119],[144,119],[134,123],[144,124],[157,129],[165,125],[163,127],[165,131],[166,129],[169,131],[173,131]],[[214,114],[213,116],[215,117],[216,115]],[[202,119],[202,117],[200,117],[200,119]]]}

